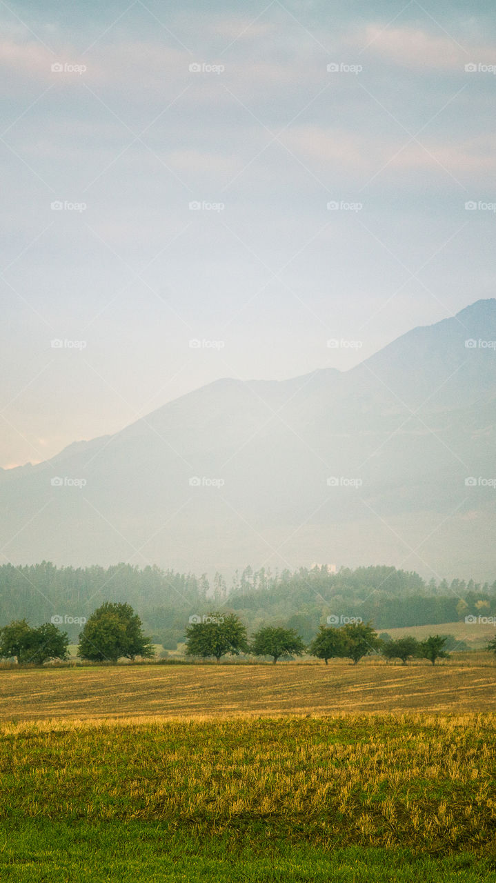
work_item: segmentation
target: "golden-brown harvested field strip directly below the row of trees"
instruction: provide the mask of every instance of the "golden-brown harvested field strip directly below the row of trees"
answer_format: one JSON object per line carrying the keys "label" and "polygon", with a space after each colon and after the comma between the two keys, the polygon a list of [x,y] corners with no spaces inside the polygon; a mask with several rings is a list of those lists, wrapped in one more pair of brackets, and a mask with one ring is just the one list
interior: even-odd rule
{"label": "golden-brown harvested field strip directly below the row of trees", "polygon": [[490,653],[435,667],[381,659],[277,665],[144,665],[0,670],[0,720],[147,714],[484,712],[496,698]]}

